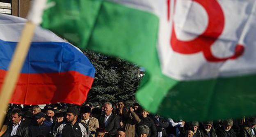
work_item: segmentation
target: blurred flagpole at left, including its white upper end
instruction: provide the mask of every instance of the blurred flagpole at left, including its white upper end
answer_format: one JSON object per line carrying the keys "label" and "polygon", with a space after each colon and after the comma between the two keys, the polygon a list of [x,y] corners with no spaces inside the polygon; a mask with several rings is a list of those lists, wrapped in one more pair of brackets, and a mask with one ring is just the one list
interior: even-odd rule
{"label": "blurred flagpole at left, including its white upper end", "polygon": [[21,68],[24,64],[27,52],[30,48],[34,30],[37,25],[42,21],[43,10],[46,7],[46,0],[33,0],[32,7],[27,15],[28,21],[26,22],[23,31],[21,33],[20,41],[16,46],[14,55],[12,57],[9,69],[5,76],[4,83],[0,92],[0,128],[5,119],[5,111],[12,97],[14,89],[16,87]]}

